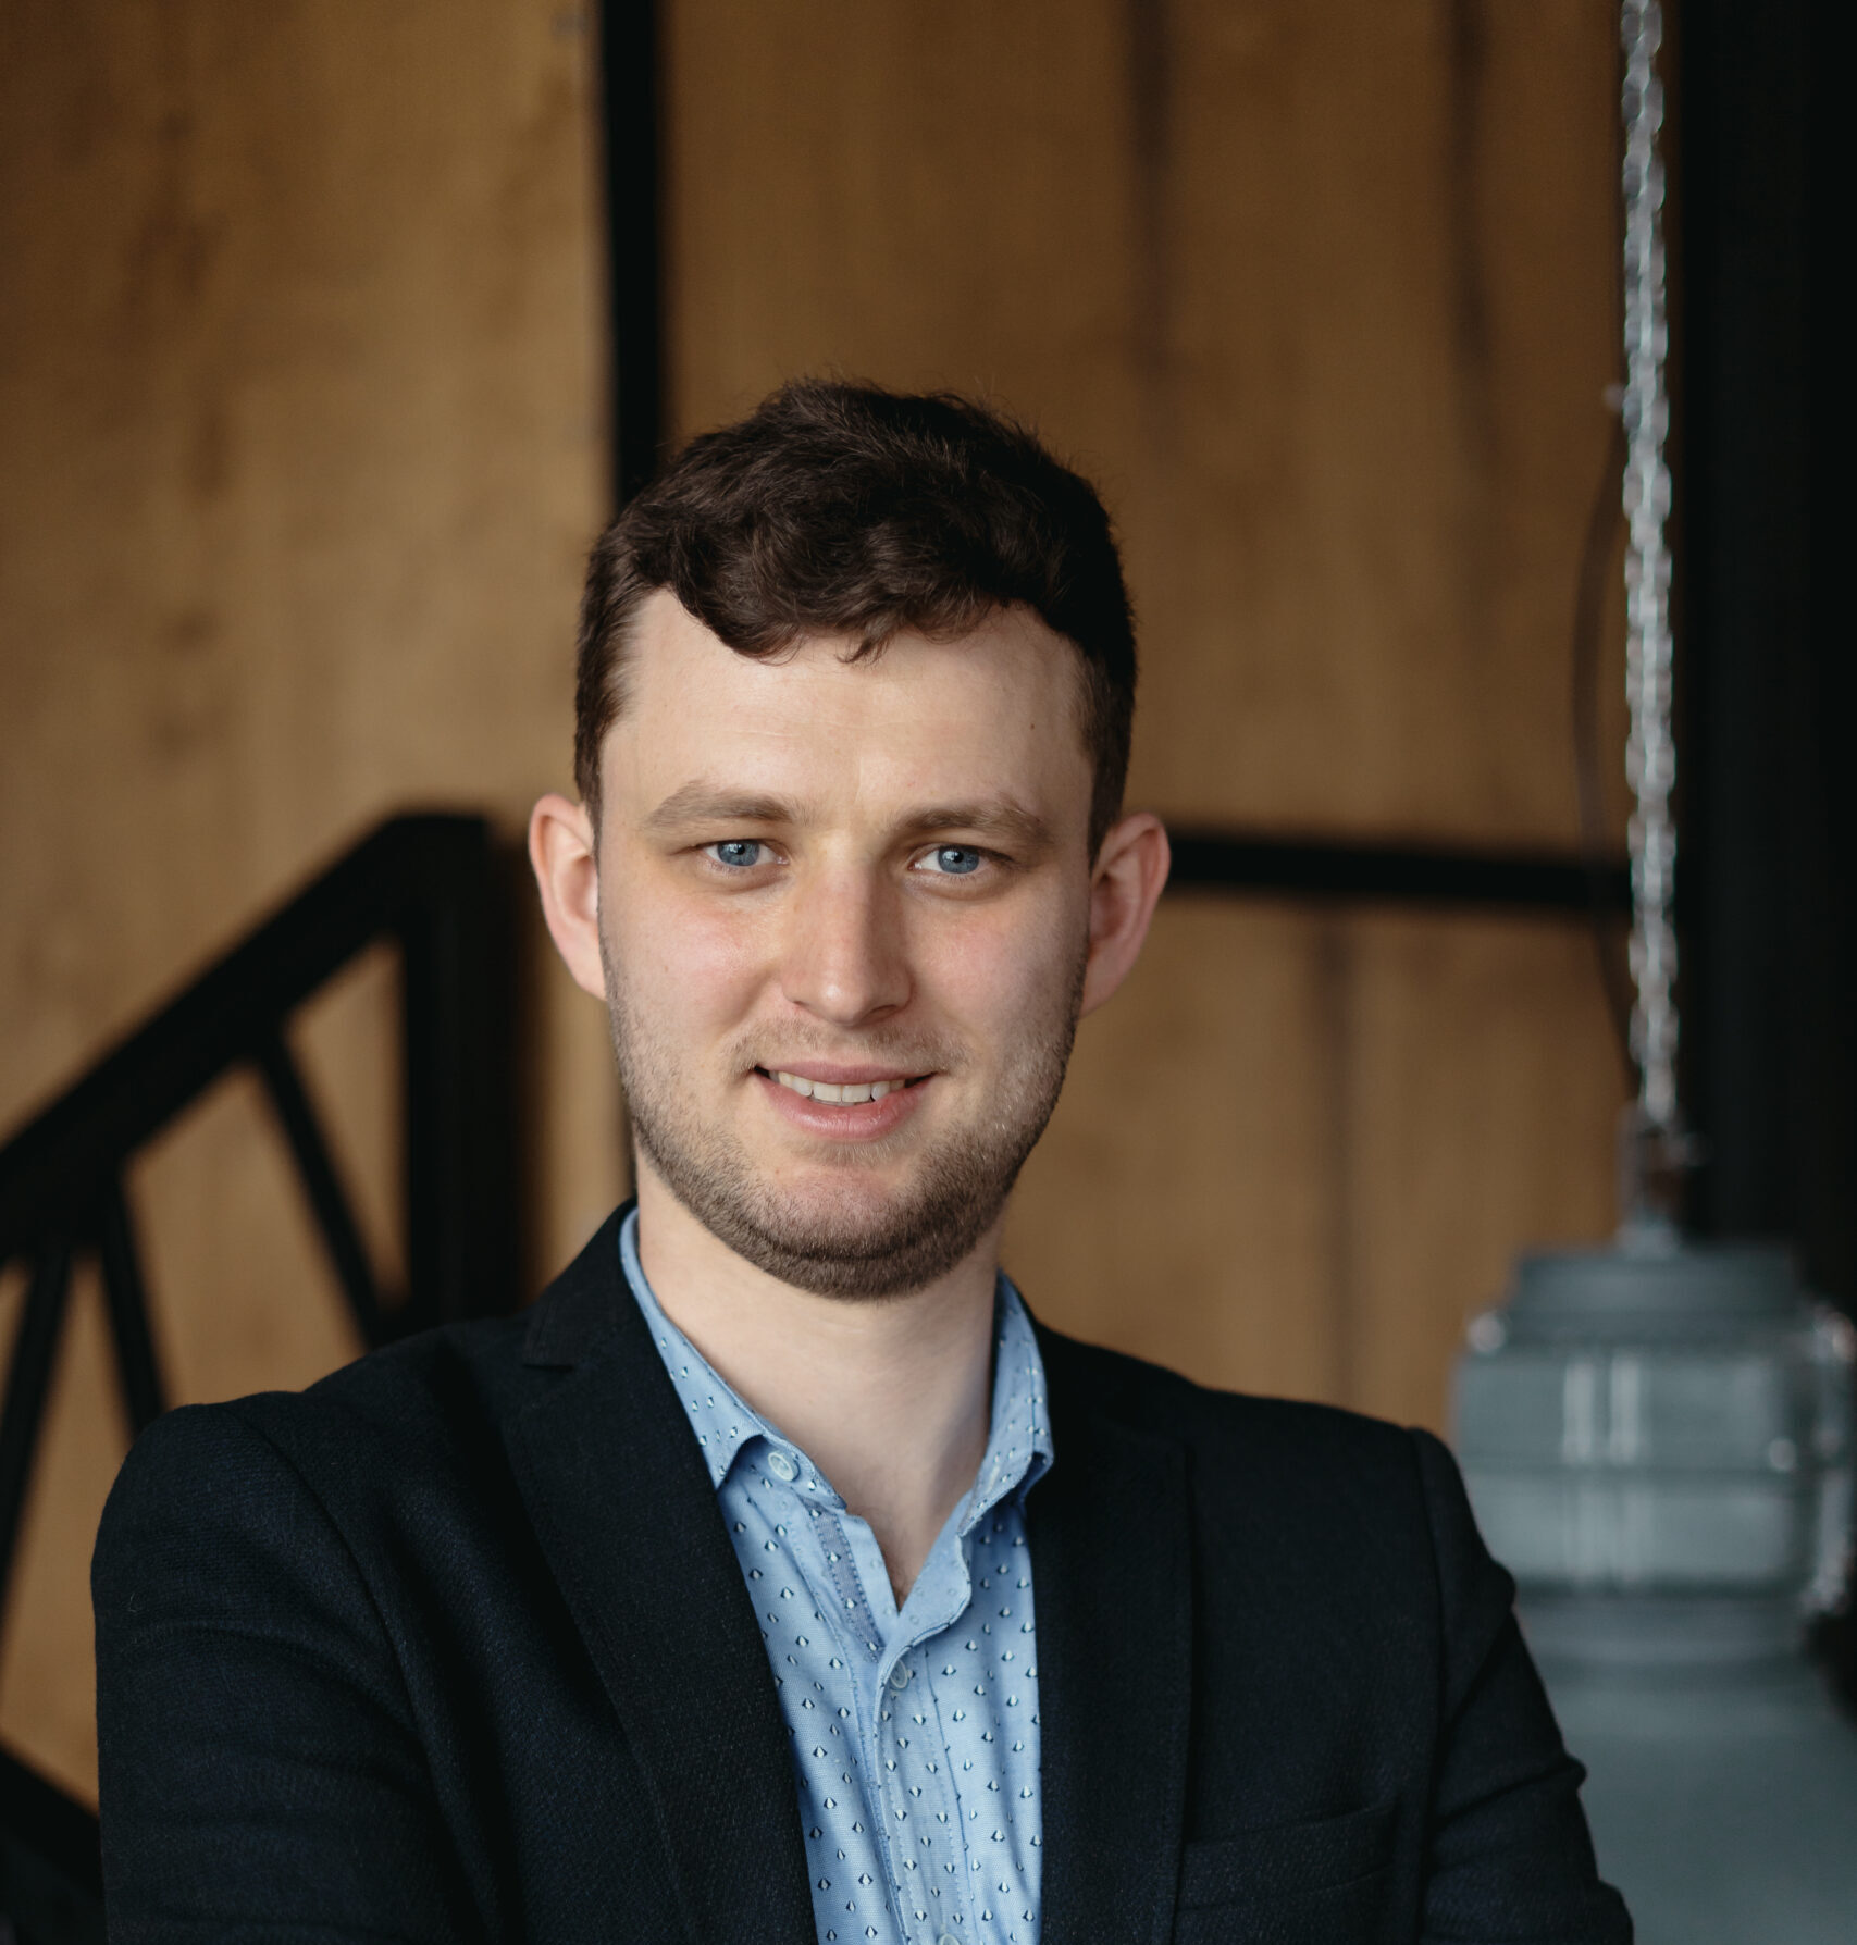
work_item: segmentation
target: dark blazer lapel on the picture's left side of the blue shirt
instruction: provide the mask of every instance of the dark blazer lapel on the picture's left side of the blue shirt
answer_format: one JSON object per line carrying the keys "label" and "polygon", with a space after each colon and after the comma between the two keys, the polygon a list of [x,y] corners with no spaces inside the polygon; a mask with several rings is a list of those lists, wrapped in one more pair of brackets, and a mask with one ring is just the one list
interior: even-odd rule
{"label": "dark blazer lapel on the picture's left side of the blue shirt", "polygon": [[537,1305],[525,1362],[570,1375],[508,1424],[509,1461],[646,1772],[690,1939],[813,1945],[774,1679],[688,1418],[624,1288],[622,1216]]}

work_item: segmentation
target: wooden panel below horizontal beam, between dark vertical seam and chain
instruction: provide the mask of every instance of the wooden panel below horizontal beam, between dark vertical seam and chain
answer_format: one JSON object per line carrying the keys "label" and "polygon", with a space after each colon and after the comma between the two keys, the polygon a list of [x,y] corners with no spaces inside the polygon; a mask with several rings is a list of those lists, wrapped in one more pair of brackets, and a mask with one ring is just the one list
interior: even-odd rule
{"label": "wooden panel below horizontal beam, between dark vertical seam and chain", "polygon": [[1447,1432],[1517,1251],[1612,1227],[1622,1066],[1579,922],[1363,914],[1342,953],[1340,1397]]}

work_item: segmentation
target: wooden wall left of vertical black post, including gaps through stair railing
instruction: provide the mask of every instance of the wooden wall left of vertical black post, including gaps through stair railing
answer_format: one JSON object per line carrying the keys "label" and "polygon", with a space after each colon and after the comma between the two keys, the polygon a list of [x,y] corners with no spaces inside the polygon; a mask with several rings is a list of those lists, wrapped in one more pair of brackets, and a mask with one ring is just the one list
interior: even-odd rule
{"label": "wooden wall left of vertical black post, including gaps through stair railing", "polygon": [[[381,815],[515,831],[566,782],[605,512],[591,53],[560,0],[10,8],[0,1128]],[[383,1249],[389,994],[303,1033]],[[544,969],[539,1015],[535,1274],[620,1181],[599,1008]],[[136,1198],[183,1398],[352,1352],[247,1089]],[[0,1735],[76,1787],[99,1342],[66,1346],[0,1663]]]}

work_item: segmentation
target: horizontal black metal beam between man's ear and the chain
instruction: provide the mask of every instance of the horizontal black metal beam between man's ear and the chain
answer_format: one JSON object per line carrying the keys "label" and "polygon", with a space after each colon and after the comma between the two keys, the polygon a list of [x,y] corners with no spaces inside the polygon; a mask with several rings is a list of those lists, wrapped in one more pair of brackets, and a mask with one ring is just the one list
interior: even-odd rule
{"label": "horizontal black metal beam between man's ear and the chain", "polygon": [[1419,904],[1624,918],[1631,881],[1622,860],[1593,866],[1554,852],[1336,844],[1322,838],[1171,831],[1169,891],[1225,891],[1353,904]]}

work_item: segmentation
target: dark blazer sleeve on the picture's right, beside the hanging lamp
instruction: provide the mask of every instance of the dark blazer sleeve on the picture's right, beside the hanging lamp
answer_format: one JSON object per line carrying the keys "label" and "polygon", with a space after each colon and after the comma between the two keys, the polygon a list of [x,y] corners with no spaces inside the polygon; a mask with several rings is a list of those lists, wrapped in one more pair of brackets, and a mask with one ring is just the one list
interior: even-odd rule
{"label": "dark blazer sleeve on the picture's right, beside the hanging lamp", "polygon": [[1565,1750],[1515,1622],[1515,1581],[1489,1558],[1451,1453],[1414,1432],[1437,1558],[1445,1723],[1433,1787],[1425,1945],[1629,1945],[1600,1883]]}

